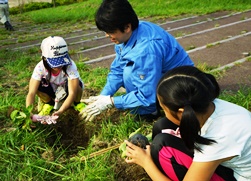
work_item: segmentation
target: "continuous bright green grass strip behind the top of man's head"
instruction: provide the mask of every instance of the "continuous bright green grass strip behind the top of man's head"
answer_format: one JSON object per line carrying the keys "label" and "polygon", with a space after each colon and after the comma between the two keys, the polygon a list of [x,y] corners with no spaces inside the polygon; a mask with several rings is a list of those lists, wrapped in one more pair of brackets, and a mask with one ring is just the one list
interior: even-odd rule
{"label": "continuous bright green grass strip behind the top of man's head", "polygon": [[[87,0],[80,3],[46,8],[19,14],[20,20],[38,23],[93,22],[93,17],[101,0]],[[132,6],[140,17],[175,17],[184,14],[207,14],[216,11],[244,11],[251,8],[249,0],[236,3],[235,0],[194,1],[194,0],[132,0]]]}

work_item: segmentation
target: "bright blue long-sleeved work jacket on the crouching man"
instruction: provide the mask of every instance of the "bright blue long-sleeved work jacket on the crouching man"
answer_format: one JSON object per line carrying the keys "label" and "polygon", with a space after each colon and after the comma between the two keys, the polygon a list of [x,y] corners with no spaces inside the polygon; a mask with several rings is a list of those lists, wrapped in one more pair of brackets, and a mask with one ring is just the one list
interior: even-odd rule
{"label": "bright blue long-sleeved work jacket on the crouching man", "polygon": [[156,111],[156,87],[164,73],[194,63],[178,41],[160,26],[140,21],[126,44],[115,45],[116,57],[111,64],[101,95],[113,96],[120,87],[126,94],[115,96],[117,109],[133,114]]}

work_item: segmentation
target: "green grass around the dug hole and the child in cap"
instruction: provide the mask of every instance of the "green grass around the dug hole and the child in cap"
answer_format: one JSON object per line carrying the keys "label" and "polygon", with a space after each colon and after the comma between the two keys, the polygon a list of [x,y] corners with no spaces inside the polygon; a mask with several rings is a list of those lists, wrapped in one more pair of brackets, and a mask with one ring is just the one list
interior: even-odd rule
{"label": "green grass around the dug hole and the child in cap", "polygon": [[[67,150],[61,148],[59,142],[56,141],[54,145],[49,145],[46,142],[46,138],[50,135],[50,129],[38,125],[36,131],[28,132],[13,125],[7,116],[8,108],[10,106],[24,108],[27,88],[24,89],[20,85],[26,82],[25,87],[27,86],[32,68],[39,57],[30,56],[29,52],[25,51],[12,52],[9,50],[8,52],[6,54],[5,51],[0,50],[0,56],[5,60],[1,63],[0,69],[1,72],[8,72],[9,79],[17,83],[18,89],[5,87],[7,85],[3,81],[5,74],[1,75],[1,180],[114,180],[116,173],[112,172],[113,167],[109,163],[110,153],[88,160],[86,163],[71,162],[66,156]],[[91,85],[95,89],[100,90],[105,83],[108,70],[105,68],[90,69],[81,63],[78,63],[78,67],[84,81],[87,84],[88,82],[92,83]],[[29,71],[20,71],[24,69]],[[104,121],[100,134],[91,138],[87,148],[79,148],[78,156],[86,156],[88,153],[94,152],[92,145],[95,140],[121,143],[130,132],[139,126],[132,120],[128,121],[126,117],[121,118],[120,125],[114,125],[109,120]],[[62,135],[58,135],[58,139],[60,136]],[[48,157],[50,150],[53,152],[53,158]],[[43,155],[47,156],[43,157]]]}

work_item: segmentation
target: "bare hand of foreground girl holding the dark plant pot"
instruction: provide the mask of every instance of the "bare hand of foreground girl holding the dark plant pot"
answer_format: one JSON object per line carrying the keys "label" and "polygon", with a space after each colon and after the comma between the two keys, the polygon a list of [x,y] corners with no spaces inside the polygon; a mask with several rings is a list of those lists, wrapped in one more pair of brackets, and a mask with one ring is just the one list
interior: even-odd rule
{"label": "bare hand of foreground girl holding the dark plant pot", "polygon": [[127,163],[136,163],[141,167],[145,167],[152,160],[150,154],[150,145],[146,146],[146,149],[140,148],[131,142],[125,140],[126,143],[126,162]]}

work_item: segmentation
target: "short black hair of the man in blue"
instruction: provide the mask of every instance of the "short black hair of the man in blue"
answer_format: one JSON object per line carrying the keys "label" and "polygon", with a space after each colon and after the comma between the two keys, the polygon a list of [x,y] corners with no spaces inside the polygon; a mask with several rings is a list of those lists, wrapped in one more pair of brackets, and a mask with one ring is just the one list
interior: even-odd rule
{"label": "short black hair of the man in blue", "polygon": [[106,33],[124,32],[126,25],[132,30],[139,25],[138,17],[127,0],[103,0],[95,15],[97,28]]}

